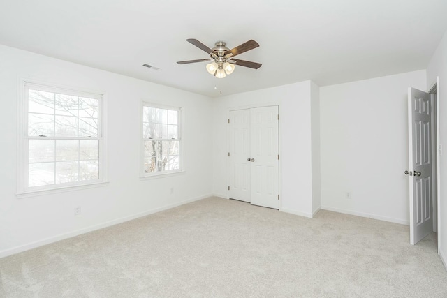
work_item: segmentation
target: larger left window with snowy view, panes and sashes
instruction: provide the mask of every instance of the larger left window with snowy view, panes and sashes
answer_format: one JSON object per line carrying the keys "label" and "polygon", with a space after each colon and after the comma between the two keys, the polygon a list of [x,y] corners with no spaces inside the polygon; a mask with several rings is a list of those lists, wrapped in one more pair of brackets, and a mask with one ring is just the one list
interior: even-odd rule
{"label": "larger left window with snowy view, panes and sashes", "polygon": [[19,193],[103,181],[102,98],[24,84]]}

